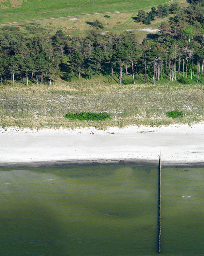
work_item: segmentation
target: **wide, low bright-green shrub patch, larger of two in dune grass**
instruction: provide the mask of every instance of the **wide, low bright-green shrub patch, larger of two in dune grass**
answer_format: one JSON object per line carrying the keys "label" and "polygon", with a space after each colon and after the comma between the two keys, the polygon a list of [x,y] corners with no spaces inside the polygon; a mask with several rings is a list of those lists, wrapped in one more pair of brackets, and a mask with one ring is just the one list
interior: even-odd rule
{"label": "wide, low bright-green shrub patch, larger of two in dune grass", "polygon": [[110,114],[103,112],[103,113],[92,113],[92,112],[81,112],[81,113],[68,113],[66,114],[65,118],[69,118],[71,120],[106,120],[107,118],[111,119]]}

